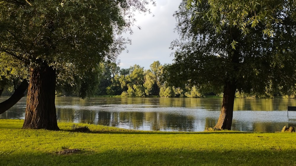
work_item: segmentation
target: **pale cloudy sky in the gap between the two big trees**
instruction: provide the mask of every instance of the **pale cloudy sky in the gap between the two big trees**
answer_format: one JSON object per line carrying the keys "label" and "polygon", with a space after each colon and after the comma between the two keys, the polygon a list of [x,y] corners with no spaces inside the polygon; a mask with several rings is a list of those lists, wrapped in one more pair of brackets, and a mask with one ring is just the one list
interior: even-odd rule
{"label": "pale cloudy sky in the gap between the two big trees", "polygon": [[150,6],[152,14],[136,13],[136,25],[133,27],[133,35],[126,34],[132,40],[132,45],[127,45],[127,51],[123,51],[118,59],[120,68],[129,68],[138,64],[144,69],[149,69],[153,61],[160,61],[160,64],[171,64],[173,57],[170,43],[178,38],[174,33],[176,20],[173,17],[178,9],[181,0],[156,0],[156,7]]}

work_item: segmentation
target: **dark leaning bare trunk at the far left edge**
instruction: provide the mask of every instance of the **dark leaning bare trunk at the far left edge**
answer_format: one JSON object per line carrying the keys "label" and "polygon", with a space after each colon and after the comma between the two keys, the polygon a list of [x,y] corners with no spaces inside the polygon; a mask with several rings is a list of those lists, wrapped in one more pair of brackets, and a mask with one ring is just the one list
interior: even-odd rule
{"label": "dark leaning bare trunk at the far left edge", "polygon": [[[28,82],[24,80],[15,92],[4,102],[0,103],[0,114],[7,111],[9,108],[12,108],[22,97],[25,96],[25,91],[28,89]],[[0,96],[1,96],[1,89],[0,89]]]}

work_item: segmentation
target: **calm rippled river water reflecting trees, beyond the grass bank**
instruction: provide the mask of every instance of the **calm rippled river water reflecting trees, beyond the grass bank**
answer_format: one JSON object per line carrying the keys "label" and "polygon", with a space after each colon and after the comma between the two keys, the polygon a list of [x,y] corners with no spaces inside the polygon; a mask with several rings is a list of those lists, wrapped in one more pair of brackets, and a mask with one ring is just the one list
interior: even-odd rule
{"label": "calm rippled river water reflecting trees, beyond the grass bank", "polygon": [[[5,98],[1,98],[0,101]],[[26,99],[0,115],[24,119]],[[100,124],[136,130],[204,131],[215,126],[221,98],[90,98],[56,97],[58,121]],[[295,99],[235,99],[232,130],[275,132],[296,126]]]}

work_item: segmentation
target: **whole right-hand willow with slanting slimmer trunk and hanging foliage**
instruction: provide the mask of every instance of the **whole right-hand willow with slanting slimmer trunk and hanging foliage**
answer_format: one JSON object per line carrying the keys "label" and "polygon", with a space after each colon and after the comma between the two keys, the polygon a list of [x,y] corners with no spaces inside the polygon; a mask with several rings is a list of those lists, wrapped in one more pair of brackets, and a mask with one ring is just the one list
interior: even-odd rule
{"label": "whole right-hand willow with slanting slimmer trunk and hanging foliage", "polygon": [[236,91],[295,86],[295,9],[290,0],[181,2],[170,80],[223,92],[214,128],[231,129]]}

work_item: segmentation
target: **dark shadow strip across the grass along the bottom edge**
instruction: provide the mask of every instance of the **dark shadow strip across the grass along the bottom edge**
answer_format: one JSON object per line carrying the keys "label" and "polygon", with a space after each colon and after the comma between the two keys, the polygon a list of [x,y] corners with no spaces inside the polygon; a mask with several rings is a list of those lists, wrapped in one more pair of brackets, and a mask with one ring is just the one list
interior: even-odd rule
{"label": "dark shadow strip across the grass along the bottom edge", "polygon": [[[100,149],[96,149],[100,151]],[[0,155],[1,165],[296,165],[293,150],[199,151],[185,149],[82,150],[78,154],[14,152]]]}

